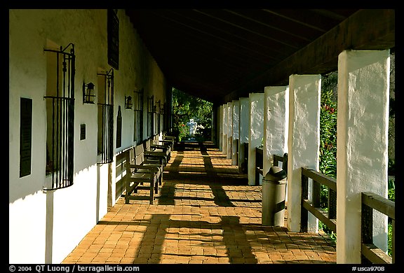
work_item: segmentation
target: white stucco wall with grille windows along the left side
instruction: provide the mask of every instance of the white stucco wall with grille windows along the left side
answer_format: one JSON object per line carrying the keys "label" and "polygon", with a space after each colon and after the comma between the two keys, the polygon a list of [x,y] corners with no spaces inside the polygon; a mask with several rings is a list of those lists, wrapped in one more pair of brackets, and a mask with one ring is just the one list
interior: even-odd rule
{"label": "white stucco wall with grille windows along the left side", "polygon": [[[140,38],[118,10],[120,64],[114,72],[114,151],[133,145],[133,111],[124,97],[144,87],[144,97],[165,95],[165,79]],[[125,38],[122,38],[123,34]],[[50,44],[74,44],[74,184],[43,191],[46,165],[46,54]],[[148,62],[148,66],[144,65]],[[149,67],[144,71],[144,67]],[[97,83],[108,71],[107,10],[9,10],[9,262],[59,263],[114,204],[114,163],[97,165],[97,97],[83,104],[83,81]],[[143,69],[143,70],[142,70]],[[95,85],[95,94],[100,92]],[[20,98],[32,99],[31,174],[19,177]],[[122,144],[115,147],[116,116],[122,111]],[[80,125],[86,139],[80,140]],[[108,183],[110,186],[108,188]],[[109,193],[110,191],[110,193]],[[112,191],[112,192],[111,192]],[[110,195],[108,197],[108,194]],[[108,198],[112,198],[110,202]]]}

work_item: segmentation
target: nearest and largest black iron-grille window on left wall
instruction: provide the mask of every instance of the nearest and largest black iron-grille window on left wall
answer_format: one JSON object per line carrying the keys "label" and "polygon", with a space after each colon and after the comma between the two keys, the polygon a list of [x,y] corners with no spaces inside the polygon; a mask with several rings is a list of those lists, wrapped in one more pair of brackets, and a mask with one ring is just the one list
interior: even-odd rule
{"label": "nearest and largest black iron-grille window on left wall", "polygon": [[[67,50],[70,48],[70,50]],[[44,190],[73,185],[74,169],[74,44],[60,50],[45,49],[46,82],[46,174],[52,175]]]}

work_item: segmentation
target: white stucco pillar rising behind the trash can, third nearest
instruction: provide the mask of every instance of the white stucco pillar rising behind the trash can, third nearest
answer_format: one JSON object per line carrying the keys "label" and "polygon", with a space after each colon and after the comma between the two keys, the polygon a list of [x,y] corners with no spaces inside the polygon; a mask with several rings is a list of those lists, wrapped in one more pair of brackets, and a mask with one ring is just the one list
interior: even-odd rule
{"label": "white stucco pillar rising behind the trash can, third nearest", "polygon": [[288,153],[289,86],[264,88],[264,165],[267,174],[274,155]]}

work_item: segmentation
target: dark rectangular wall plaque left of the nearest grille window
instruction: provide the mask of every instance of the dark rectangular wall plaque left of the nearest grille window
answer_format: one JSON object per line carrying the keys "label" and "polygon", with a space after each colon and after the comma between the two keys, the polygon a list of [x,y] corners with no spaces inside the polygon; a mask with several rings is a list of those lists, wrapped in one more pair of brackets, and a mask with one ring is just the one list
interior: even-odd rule
{"label": "dark rectangular wall plaque left of the nearest grille window", "polygon": [[32,99],[20,99],[20,177],[31,174]]}

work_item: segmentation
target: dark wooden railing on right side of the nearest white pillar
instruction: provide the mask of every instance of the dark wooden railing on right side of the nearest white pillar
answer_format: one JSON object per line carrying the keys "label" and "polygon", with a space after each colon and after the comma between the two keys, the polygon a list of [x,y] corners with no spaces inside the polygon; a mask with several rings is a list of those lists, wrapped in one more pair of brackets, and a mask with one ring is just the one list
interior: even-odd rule
{"label": "dark wooden railing on right side of the nearest white pillar", "polygon": [[[392,234],[392,258],[384,253],[382,249],[373,244],[373,210],[391,218],[393,226]],[[362,263],[394,263],[395,262],[395,223],[396,223],[396,203],[375,193],[362,193]]]}

